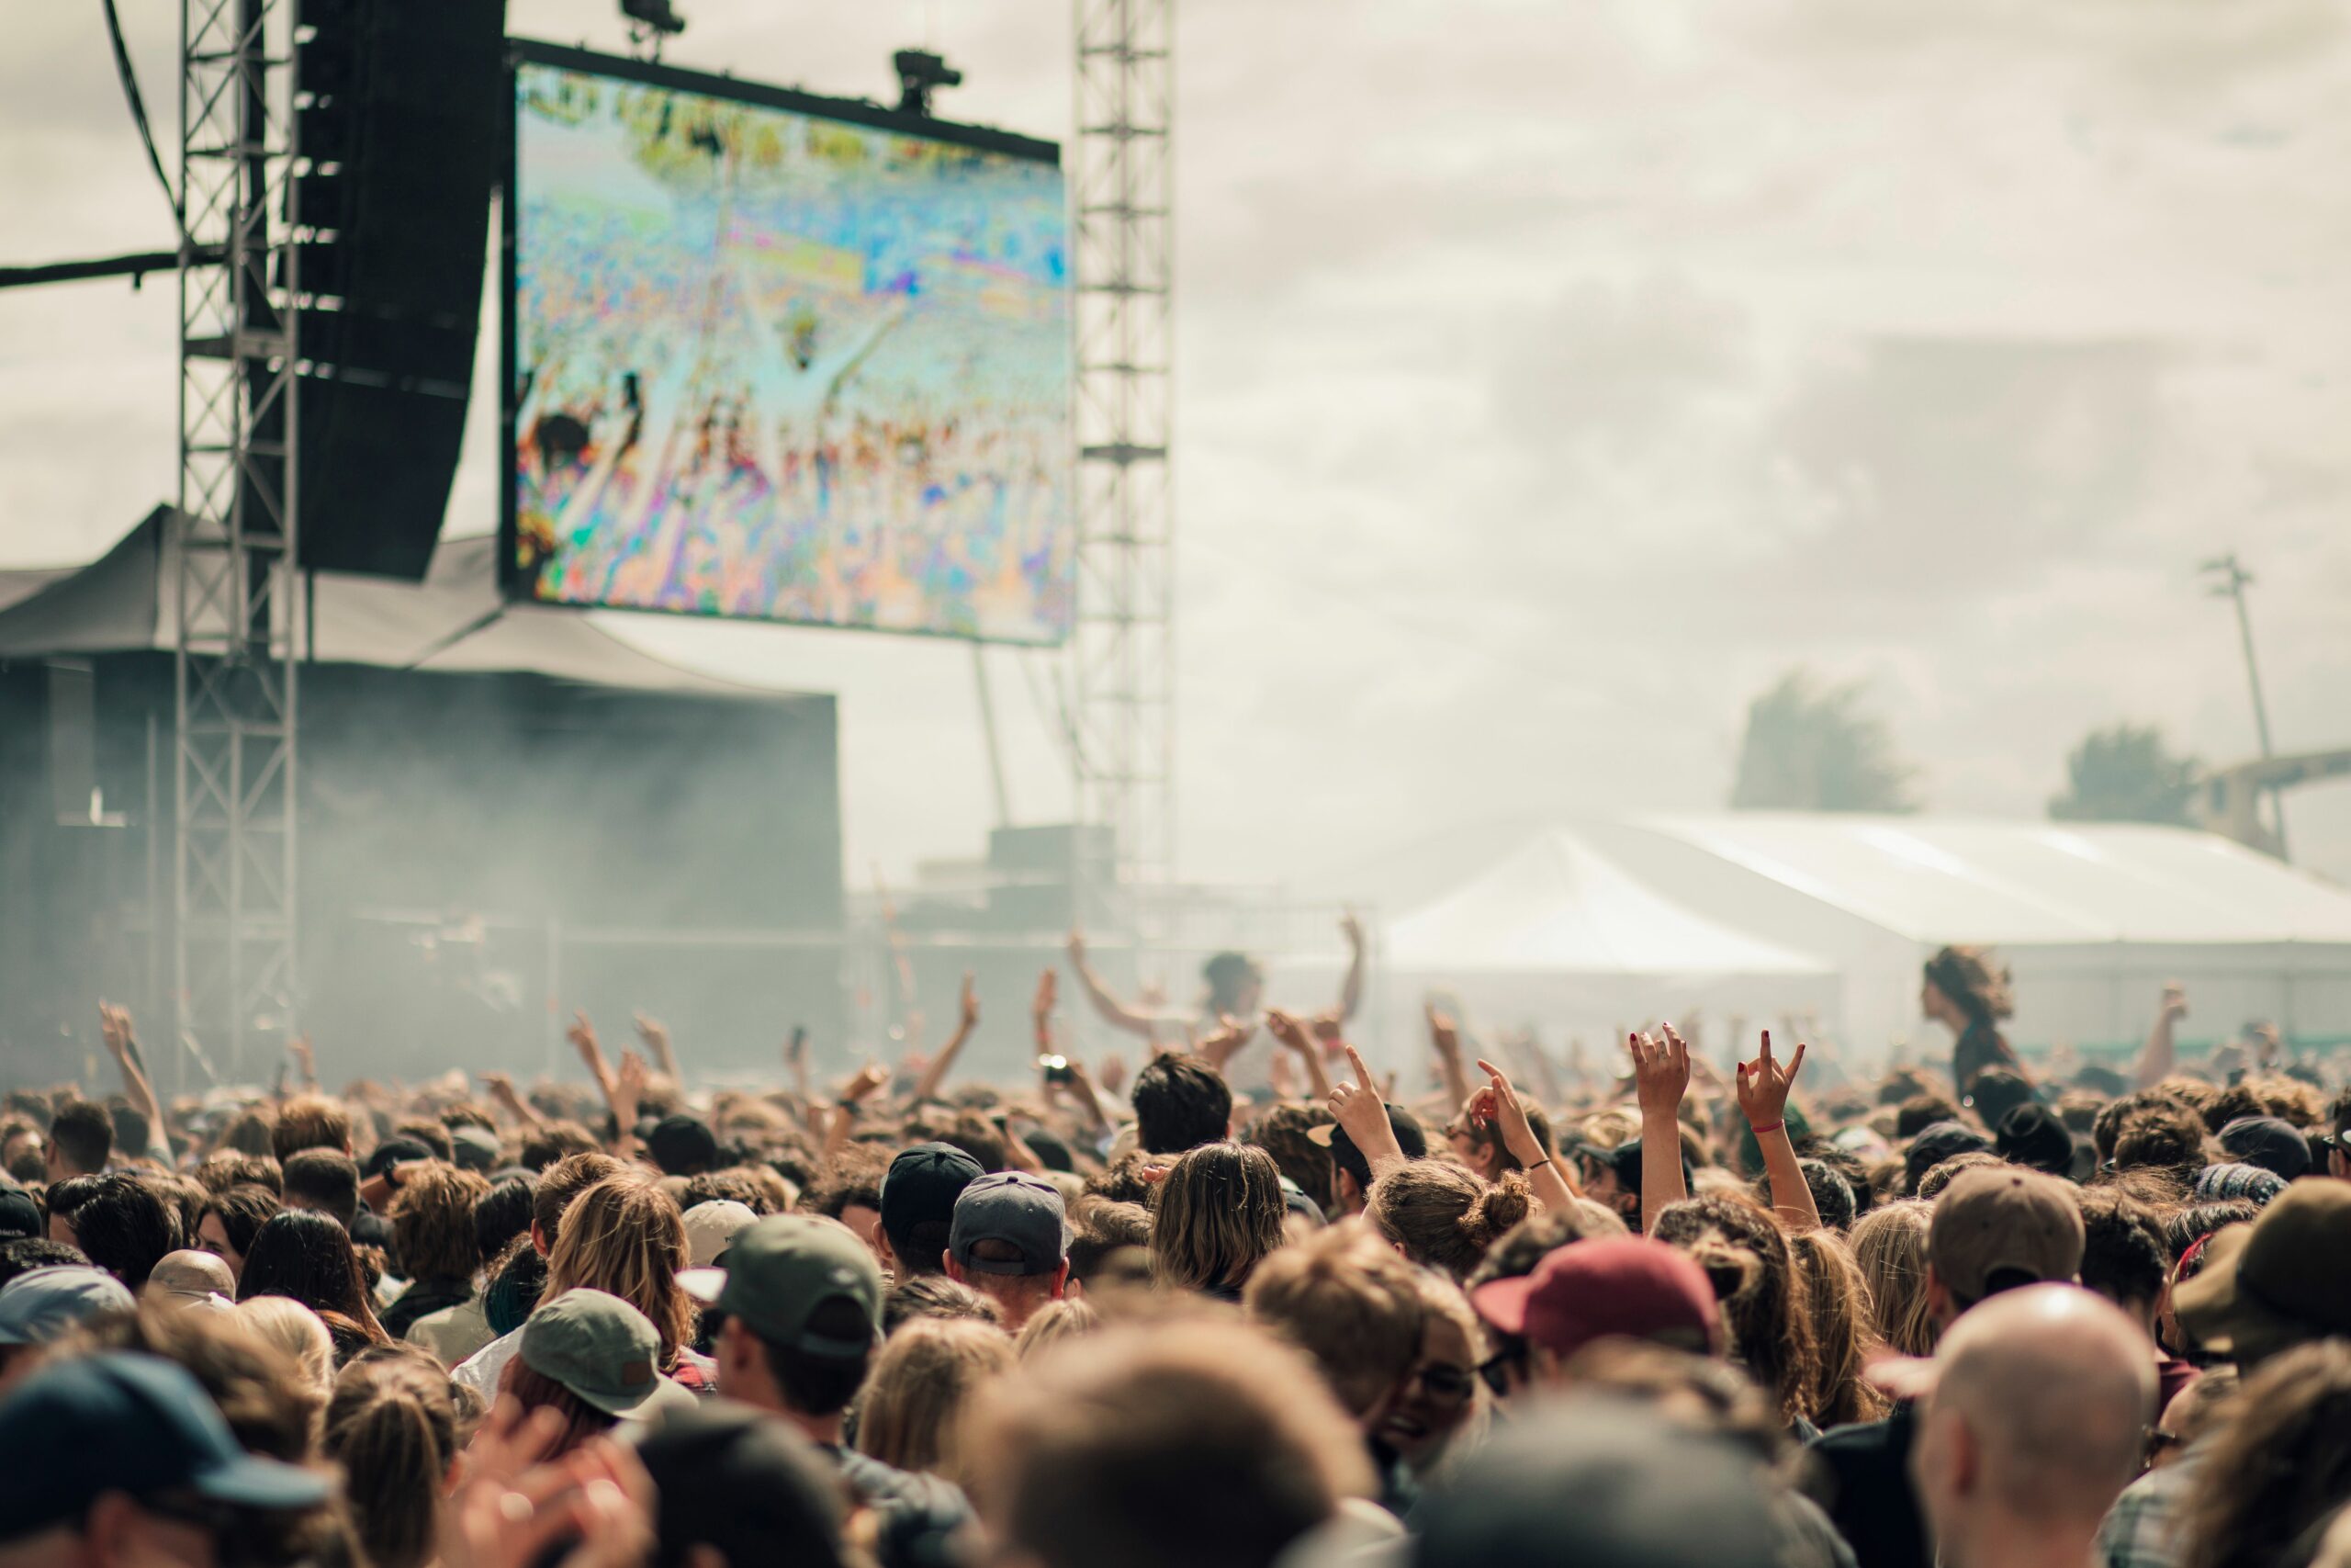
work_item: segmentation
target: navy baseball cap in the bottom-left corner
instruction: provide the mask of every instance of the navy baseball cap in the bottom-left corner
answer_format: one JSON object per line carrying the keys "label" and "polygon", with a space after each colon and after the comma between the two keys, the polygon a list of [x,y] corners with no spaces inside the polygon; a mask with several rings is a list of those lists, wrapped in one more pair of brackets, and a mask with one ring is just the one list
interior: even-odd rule
{"label": "navy baseball cap in the bottom-left corner", "polygon": [[327,1502],[327,1476],[237,1448],[186,1368],[136,1352],[75,1356],[0,1401],[0,1542],[80,1519],[101,1493],[193,1490],[254,1509]]}

